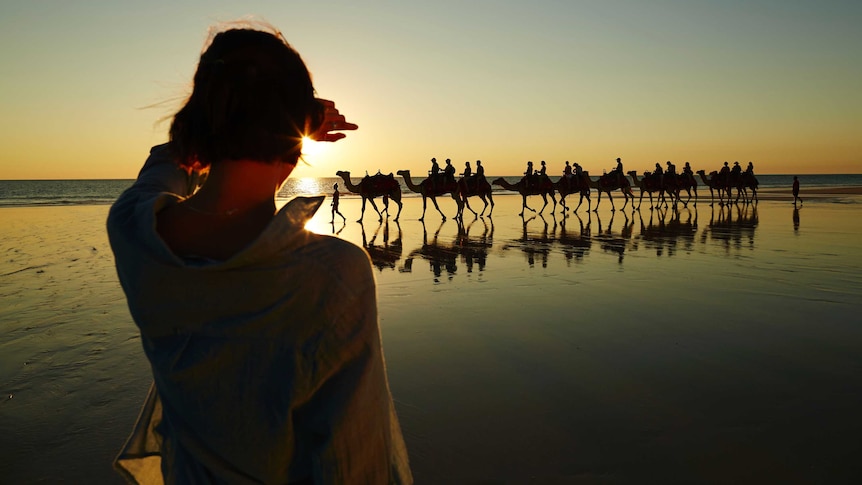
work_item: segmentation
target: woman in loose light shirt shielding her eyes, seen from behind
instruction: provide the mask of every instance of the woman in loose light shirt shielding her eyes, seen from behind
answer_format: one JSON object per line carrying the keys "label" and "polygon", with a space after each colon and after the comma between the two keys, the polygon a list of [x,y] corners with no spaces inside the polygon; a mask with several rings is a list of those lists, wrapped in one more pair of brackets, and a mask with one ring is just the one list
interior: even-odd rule
{"label": "woman in loose light shirt shielding her eyes, seen from behind", "polygon": [[108,215],[154,378],[115,467],[133,482],[410,484],[368,255],[305,229],[323,197],[275,205],[304,136],[357,126],[315,98],[275,28],[210,39],[170,142]]}

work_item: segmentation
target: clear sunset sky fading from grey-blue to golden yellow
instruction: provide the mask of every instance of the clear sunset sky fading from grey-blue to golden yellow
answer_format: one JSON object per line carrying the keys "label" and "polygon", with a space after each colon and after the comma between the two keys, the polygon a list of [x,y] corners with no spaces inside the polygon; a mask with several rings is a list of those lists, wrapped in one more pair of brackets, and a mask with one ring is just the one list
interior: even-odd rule
{"label": "clear sunset sky fading from grey-blue to golden yellow", "polygon": [[[256,15],[359,130],[299,176],[593,175],[725,160],[862,173],[859,0],[13,0],[0,9],[0,179],[133,178],[207,28]],[[160,121],[161,120],[161,121]]]}

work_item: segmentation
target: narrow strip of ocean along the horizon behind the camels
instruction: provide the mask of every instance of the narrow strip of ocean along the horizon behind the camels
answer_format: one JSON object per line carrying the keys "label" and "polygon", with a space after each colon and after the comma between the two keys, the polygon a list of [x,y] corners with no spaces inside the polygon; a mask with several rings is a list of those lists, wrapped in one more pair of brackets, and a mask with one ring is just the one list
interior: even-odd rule
{"label": "narrow strip of ocean along the horizon behind the camels", "polygon": [[[404,197],[418,197],[411,192],[404,179],[396,177],[401,183]],[[496,176],[488,177],[489,180]],[[505,176],[512,183],[520,176]],[[553,177],[552,177],[553,178]],[[793,175],[758,175],[761,188],[789,188]],[[354,178],[358,182],[359,178]],[[414,177],[417,183],[421,179]],[[844,187],[862,186],[862,174],[819,174],[800,175],[803,187]],[[0,207],[27,206],[64,206],[64,205],[101,205],[111,204],[132,184],[131,179],[122,180],[0,180]],[[290,199],[297,195],[329,194],[332,185],[340,184],[342,195],[346,198],[358,197],[347,192],[343,181],[338,177],[319,178],[289,178],[278,193],[279,199]],[[495,192],[507,192],[498,186],[493,186]],[[704,187],[701,187],[705,189]]]}

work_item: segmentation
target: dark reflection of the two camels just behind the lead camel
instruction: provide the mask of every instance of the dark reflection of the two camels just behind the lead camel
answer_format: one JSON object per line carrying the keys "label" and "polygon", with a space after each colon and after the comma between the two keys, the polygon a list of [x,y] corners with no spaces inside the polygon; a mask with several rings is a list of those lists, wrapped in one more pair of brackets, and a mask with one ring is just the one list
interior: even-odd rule
{"label": "dark reflection of the two camels just behind the lead camel", "polygon": [[[442,221],[434,231],[433,237],[428,239],[428,230],[422,222],[422,246],[410,251],[404,260],[404,266],[399,270],[402,273],[413,271],[413,260],[422,258],[428,261],[428,266],[434,274],[434,281],[439,282],[445,270],[449,280],[458,271],[458,259],[464,262],[467,273],[472,273],[476,266],[479,271],[485,269],[488,260],[488,251],[493,245],[494,222],[491,218],[475,217],[468,224],[462,219],[455,219],[457,233],[451,242],[441,242],[440,232],[448,223]],[[480,221],[483,232],[480,236],[471,237],[472,227]]]}

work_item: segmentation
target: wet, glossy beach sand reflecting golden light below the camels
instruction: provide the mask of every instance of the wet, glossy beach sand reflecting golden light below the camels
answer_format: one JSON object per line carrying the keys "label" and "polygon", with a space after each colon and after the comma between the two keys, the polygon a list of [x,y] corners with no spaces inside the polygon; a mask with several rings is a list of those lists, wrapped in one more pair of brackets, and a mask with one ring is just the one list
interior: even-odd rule
{"label": "wet, glossy beach sand reflecting golden light below the camels", "polygon": [[[353,222],[356,198],[344,225],[321,208],[310,227],[378,268],[417,483],[858,479],[862,192],[803,187],[798,210],[786,190],[756,208],[700,192],[678,213],[603,197],[526,218],[498,195],[463,226],[451,199],[424,224],[418,198],[399,223]],[[0,209],[3,482],[122,482],[111,461],[151,378],[107,211]]]}

